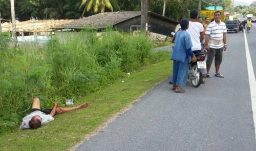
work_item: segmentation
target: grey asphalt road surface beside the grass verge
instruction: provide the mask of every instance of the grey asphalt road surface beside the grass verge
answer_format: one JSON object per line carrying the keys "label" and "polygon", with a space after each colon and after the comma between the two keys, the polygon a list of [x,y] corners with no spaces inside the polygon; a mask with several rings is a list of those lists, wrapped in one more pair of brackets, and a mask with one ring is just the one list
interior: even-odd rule
{"label": "grey asphalt road surface beside the grass verge", "polygon": [[[246,36],[256,75],[256,27]],[[244,33],[227,38],[225,78],[187,82],[184,94],[166,80],[75,150],[256,150]]]}

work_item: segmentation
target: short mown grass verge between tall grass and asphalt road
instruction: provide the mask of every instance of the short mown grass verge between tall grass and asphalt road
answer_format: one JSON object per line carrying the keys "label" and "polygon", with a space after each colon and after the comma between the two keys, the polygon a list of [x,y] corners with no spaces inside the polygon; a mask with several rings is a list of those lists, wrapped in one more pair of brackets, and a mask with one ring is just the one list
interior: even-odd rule
{"label": "short mown grass verge between tall grass and asphalt road", "polygon": [[[172,73],[172,63],[164,60],[129,77],[117,80],[104,90],[75,104],[89,102],[89,107],[58,115],[53,122],[37,130],[2,133],[1,150],[65,150],[73,147],[136,99]],[[122,82],[123,81],[123,82]]]}

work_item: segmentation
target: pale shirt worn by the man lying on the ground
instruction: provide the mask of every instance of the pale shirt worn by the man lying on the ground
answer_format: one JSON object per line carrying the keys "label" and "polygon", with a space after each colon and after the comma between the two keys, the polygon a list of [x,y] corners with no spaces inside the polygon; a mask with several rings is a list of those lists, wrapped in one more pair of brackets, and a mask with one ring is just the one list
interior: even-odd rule
{"label": "pale shirt worn by the man lying on the ground", "polygon": [[54,118],[50,115],[46,115],[45,113],[41,112],[41,111],[34,111],[31,112],[29,115],[25,116],[22,120],[22,125],[19,126],[20,129],[25,129],[25,128],[30,128],[29,126],[29,121],[31,120],[31,118],[35,115],[39,115],[41,118],[41,124],[45,124],[48,123],[50,121],[53,121]]}

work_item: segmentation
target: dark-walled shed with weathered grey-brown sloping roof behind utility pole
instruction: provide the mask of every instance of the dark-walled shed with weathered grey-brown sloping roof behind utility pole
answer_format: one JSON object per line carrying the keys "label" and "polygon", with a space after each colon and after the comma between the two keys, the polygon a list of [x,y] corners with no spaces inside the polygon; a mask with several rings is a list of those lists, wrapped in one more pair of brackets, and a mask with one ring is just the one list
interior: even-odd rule
{"label": "dark-walled shed with weathered grey-brown sloping roof behind utility pole", "polygon": [[[130,31],[131,26],[140,25],[141,12],[140,11],[117,11],[104,12],[92,16],[84,17],[70,21],[69,23],[55,26],[58,29],[76,29],[81,30],[84,27],[97,27],[104,29],[108,26],[118,28],[124,31]],[[172,31],[179,24],[178,21],[162,16],[154,12],[148,12],[148,25],[151,26],[149,30],[154,33],[169,36]]]}

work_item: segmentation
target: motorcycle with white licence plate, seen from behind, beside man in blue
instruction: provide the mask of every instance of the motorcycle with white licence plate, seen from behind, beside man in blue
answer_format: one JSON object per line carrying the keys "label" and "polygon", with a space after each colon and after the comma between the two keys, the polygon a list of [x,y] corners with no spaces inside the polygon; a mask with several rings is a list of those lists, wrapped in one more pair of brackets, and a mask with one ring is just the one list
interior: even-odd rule
{"label": "motorcycle with white licence plate, seen from behind, beside man in blue", "polygon": [[206,51],[196,53],[196,62],[190,62],[189,63],[189,70],[188,70],[188,80],[190,80],[193,87],[197,88],[201,85],[203,74],[202,70],[206,70]]}

